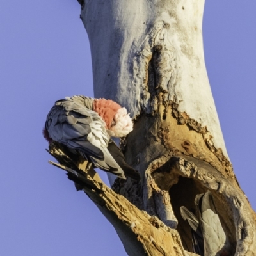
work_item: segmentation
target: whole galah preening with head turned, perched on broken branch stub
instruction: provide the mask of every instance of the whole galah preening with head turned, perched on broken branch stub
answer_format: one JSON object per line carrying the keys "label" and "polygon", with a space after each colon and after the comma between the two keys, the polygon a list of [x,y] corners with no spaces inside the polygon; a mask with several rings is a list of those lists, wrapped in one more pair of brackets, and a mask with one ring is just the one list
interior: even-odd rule
{"label": "whole galah preening with head turned, perched on broken branch stub", "polygon": [[113,100],[75,95],[58,100],[47,115],[45,139],[58,141],[75,150],[95,168],[140,180],[139,173],[125,163],[122,151],[111,140],[124,137],[133,129],[125,108]]}

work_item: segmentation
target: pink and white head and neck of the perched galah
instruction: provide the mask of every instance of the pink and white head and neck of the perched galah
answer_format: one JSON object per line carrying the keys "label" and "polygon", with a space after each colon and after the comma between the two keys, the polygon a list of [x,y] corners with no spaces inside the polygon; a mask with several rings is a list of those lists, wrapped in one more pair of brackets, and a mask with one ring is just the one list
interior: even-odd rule
{"label": "pink and white head and neck of the perched galah", "polygon": [[113,100],[95,99],[93,111],[97,112],[106,123],[109,136],[124,137],[133,129],[130,114]]}

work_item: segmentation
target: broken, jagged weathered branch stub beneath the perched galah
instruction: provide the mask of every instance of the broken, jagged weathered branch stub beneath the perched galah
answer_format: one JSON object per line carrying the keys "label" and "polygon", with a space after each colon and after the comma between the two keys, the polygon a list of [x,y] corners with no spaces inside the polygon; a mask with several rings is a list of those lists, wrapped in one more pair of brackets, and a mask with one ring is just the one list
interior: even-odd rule
{"label": "broken, jagged weathered branch stub beneath the perched galah", "polygon": [[[184,250],[176,230],[164,225],[156,216],[150,216],[131,204],[124,196],[118,195],[106,186],[97,172],[89,168],[87,161],[72,161],[66,155],[63,145],[50,145],[49,153],[65,165],[49,163],[68,172],[68,178],[83,189],[100,211],[113,224],[120,239],[125,241],[125,250],[129,255],[194,255]],[[66,161],[70,159],[70,163]],[[68,166],[76,164],[76,170]],[[83,169],[81,169],[83,166]]]}

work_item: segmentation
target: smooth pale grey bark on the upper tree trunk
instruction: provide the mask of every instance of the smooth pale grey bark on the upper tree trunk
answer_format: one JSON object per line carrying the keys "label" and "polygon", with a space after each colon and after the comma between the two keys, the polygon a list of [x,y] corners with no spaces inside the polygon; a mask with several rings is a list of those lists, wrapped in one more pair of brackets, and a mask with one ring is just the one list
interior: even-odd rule
{"label": "smooth pale grey bark on the upper tree trunk", "polygon": [[[115,99],[136,118],[159,104],[147,86],[148,62],[161,54],[156,76],[166,99],[207,126],[207,140],[227,157],[204,63],[204,0],[85,1],[81,11],[89,36],[95,97]],[[155,56],[155,58],[157,58]]]}

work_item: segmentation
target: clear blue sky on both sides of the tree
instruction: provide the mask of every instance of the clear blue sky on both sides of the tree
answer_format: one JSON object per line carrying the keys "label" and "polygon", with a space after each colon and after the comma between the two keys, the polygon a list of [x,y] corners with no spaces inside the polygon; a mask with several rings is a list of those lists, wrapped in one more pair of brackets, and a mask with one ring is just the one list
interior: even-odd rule
{"label": "clear blue sky on both sides of the tree", "polygon": [[[206,0],[205,61],[228,154],[256,209],[256,1]],[[0,255],[126,255],[113,227],[42,138],[55,100],[93,96],[76,0],[0,1]],[[106,175],[103,173],[103,179]]]}

